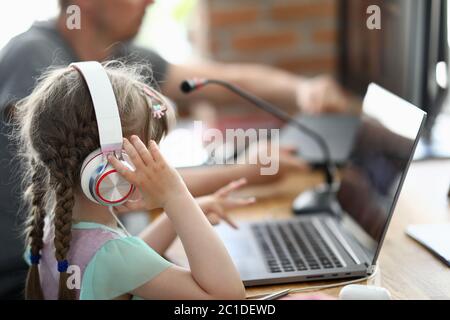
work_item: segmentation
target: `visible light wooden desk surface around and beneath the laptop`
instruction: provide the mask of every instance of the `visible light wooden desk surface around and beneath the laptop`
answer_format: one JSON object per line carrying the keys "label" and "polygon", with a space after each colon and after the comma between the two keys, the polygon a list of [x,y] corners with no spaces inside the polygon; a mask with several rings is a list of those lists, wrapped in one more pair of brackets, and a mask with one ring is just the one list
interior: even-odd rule
{"label": "visible light wooden desk surface around and beneath the laptop", "polygon": [[[271,185],[246,188],[241,193],[255,195],[259,201],[251,207],[236,210],[232,213],[233,218],[243,221],[289,216],[294,197],[320,181],[320,174],[311,173],[291,175]],[[370,284],[387,288],[394,299],[450,299],[450,268],[405,234],[409,224],[450,222],[449,186],[449,161],[412,164],[381,250],[379,272]],[[168,256],[177,263],[187,264],[179,242],[169,249]],[[329,283],[332,282],[250,287],[247,295]],[[337,297],[340,289],[321,292]]]}

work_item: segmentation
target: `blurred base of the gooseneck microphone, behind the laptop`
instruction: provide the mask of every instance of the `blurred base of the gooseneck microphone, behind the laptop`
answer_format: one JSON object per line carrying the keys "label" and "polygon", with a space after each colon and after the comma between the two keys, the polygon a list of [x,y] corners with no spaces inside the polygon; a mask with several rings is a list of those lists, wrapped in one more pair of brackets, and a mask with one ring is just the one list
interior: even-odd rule
{"label": "blurred base of the gooseneck microphone, behind the laptop", "polygon": [[340,206],[336,198],[339,184],[320,186],[300,193],[292,203],[295,214],[332,213],[338,214]]}

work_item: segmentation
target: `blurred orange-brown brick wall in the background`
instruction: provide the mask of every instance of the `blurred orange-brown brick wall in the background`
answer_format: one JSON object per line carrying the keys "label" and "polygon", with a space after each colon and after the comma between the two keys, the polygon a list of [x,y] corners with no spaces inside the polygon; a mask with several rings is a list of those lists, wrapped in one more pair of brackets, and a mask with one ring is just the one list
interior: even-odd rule
{"label": "blurred orange-brown brick wall in the background", "polygon": [[336,71],[338,0],[201,0],[204,51],[301,74]]}

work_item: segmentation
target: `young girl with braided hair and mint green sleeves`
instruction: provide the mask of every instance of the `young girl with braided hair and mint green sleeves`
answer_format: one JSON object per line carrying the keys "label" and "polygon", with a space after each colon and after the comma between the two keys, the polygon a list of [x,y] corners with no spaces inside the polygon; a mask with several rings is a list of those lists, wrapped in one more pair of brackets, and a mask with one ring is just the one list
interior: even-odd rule
{"label": "young girl with braided hair and mint green sleeves", "polygon": [[[154,114],[156,91],[139,70],[106,64],[121,118],[124,149],[135,170],[108,161],[142,195],[163,208],[140,237],[119,229],[108,207],[90,201],[80,186],[83,160],[99,146],[88,88],[71,67],[53,70],[17,106],[18,139],[26,159],[27,299],[241,299],[244,287],[224,245],[178,172],[158,150],[169,116]],[[151,90],[153,94],[149,94]],[[163,98],[162,98],[163,99]],[[158,102],[160,103],[160,101]],[[166,105],[170,113],[170,106]],[[253,202],[229,193],[232,183],[203,198],[208,212]],[[178,235],[190,270],[161,254]],[[73,267],[73,268],[71,268]],[[76,279],[76,271],[81,279]]]}

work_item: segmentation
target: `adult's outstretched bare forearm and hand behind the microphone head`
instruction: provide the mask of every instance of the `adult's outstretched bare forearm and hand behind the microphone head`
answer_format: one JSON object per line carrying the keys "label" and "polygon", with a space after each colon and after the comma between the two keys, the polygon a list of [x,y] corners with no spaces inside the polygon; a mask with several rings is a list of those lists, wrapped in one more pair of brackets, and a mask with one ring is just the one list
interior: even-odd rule
{"label": "adult's outstretched bare forearm and hand behind the microphone head", "polygon": [[242,103],[242,99],[219,86],[184,95],[180,83],[188,78],[219,78],[236,84],[286,110],[305,112],[344,111],[348,98],[329,76],[302,77],[260,64],[205,62],[168,66],[162,91],[177,102],[208,100],[218,105]]}

